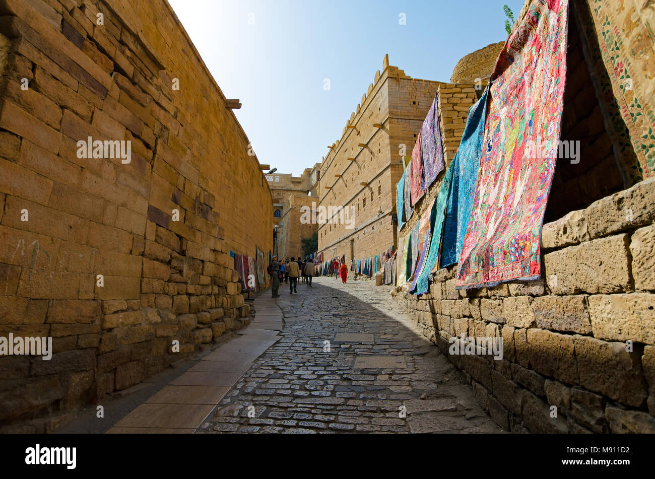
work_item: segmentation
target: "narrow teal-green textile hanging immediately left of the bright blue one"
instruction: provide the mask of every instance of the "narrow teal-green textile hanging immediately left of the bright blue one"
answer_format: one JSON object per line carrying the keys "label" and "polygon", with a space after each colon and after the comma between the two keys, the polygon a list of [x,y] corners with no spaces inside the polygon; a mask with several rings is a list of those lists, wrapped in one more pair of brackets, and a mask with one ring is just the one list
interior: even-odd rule
{"label": "narrow teal-green textile hanging immediately left of the bright blue one", "polygon": [[418,278],[412,283],[410,291],[413,294],[425,294],[428,292],[428,279],[432,268],[436,266],[439,257],[439,247],[441,243],[441,230],[443,228],[443,218],[445,215],[445,203],[448,198],[451,181],[453,181],[453,171],[455,171],[455,162],[451,162],[443,175],[443,181],[434,199],[430,212],[430,240],[426,247],[426,258],[423,261],[421,271],[418,272]]}

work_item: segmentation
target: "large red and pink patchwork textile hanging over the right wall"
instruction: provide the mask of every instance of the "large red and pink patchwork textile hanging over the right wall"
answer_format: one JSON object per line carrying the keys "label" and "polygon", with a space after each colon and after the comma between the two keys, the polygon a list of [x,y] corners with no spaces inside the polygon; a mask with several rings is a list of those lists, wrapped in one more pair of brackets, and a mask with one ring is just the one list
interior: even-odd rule
{"label": "large red and pink patchwork textile hanging over the right wall", "polygon": [[541,274],[541,227],[561,132],[568,6],[534,0],[498,56],[459,288]]}

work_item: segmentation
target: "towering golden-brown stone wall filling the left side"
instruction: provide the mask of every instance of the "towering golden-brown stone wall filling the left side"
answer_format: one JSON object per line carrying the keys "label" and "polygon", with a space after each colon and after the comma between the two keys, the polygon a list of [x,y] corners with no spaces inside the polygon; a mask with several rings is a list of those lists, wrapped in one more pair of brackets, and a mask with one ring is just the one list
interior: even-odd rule
{"label": "towering golden-brown stone wall filling the left side", "polygon": [[[0,426],[42,432],[238,327],[229,251],[271,250],[271,192],[165,1],[0,15],[0,336],[54,349],[0,358]],[[131,161],[79,158],[88,137]]]}

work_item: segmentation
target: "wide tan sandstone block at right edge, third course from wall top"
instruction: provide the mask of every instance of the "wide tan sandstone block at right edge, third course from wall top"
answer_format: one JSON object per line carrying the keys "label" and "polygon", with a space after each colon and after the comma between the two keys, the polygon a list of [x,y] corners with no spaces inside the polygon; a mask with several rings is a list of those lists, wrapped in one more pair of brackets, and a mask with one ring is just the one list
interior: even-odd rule
{"label": "wide tan sandstone block at right edge, third course from wall top", "polygon": [[589,296],[593,336],[608,341],[655,343],[655,294]]}

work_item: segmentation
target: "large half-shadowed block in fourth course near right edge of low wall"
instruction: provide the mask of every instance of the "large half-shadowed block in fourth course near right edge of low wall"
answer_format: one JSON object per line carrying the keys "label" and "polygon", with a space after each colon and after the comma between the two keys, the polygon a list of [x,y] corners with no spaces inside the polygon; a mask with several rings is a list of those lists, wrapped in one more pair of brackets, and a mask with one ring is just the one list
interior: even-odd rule
{"label": "large half-shadowed block in fourth course near right edge of low wall", "polygon": [[582,387],[629,406],[641,405],[647,393],[639,355],[627,353],[624,343],[577,334],[572,338]]}

